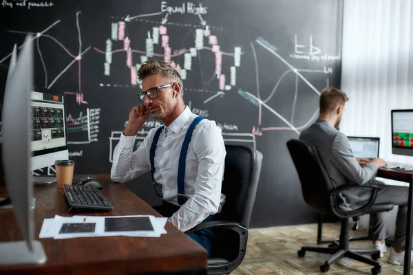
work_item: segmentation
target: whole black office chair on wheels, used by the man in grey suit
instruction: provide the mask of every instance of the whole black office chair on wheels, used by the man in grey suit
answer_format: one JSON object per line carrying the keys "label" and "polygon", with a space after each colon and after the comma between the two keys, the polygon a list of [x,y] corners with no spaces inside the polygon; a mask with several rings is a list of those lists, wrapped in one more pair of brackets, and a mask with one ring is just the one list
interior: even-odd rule
{"label": "whole black office chair on wheels, used by the man in grey suit", "polygon": [[[320,266],[321,272],[327,272],[330,265],[337,263],[344,257],[361,261],[368,265],[373,265],[372,274],[379,274],[381,272],[381,264],[375,260],[379,259],[380,252],[376,249],[350,249],[348,246],[348,219],[351,217],[361,216],[362,214],[370,214],[374,212],[390,211],[393,205],[387,204],[373,204],[377,197],[377,186],[359,186],[346,185],[334,188],[330,177],[326,173],[324,165],[321,162],[319,153],[315,146],[302,142],[300,140],[289,140],[287,142],[288,151],[297,173],[299,181],[301,182],[301,191],[304,200],[308,205],[313,207],[321,214],[334,214],[341,219],[341,232],[339,243],[337,246],[329,248],[313,248],[302,247],[298,252],[299,257],[304,257],[306,251],[320,252],[325,254],[333,254],[324,265]],[[361,206],[357,210],[345,212],[341,210],[339,204],[341,198],[339,194],[344,190],[351,190],[352,188],[372,188],[372,196],[368,203]],[[372,259],[368,259],[361,254],[370,254]]]}

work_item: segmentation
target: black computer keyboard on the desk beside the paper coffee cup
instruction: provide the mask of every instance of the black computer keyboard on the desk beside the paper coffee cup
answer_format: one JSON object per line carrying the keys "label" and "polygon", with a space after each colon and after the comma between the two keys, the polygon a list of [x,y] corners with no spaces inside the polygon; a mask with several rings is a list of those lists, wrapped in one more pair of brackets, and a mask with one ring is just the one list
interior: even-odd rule
{"label": "black computer keyboard on the desk beside the paper coffee cup", "polygon": [[114,209],[96,187],[64,185],[63,188],[70,204],[69,212],[98,212]]}

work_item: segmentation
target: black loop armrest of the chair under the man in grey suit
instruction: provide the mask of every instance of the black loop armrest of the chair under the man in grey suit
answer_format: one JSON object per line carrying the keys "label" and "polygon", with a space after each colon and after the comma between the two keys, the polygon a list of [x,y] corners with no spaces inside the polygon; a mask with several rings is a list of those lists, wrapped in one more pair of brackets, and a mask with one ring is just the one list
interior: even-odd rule
{"label": "black loop armrest of the chair under the man in grey suit", "polygon": [[[343,192],[344,190],[351,190],[351,189],[359,189],[359,188],[371,188],[373,190],[372,195],[366,205],[361,206],[361,208],[358,208],[356,210],[352,211],[346,211],[342,212],[339,210],[338,204],[337,204],[337,196],[339,195],[340,192]],[[368,210],[371,208],[372,204],[376,200],[377,197],[377,191],[381,190],[380,186],[372,186],[372,185],[358,185],[358,184],[346,184],[343,186],[339,186],[339,188],[332,190],[330,192],[330,202],[332,206],[332,211],[339,217],[347,217],[347,216],[353,216],[354,214],[363,214],[365,210]]]}

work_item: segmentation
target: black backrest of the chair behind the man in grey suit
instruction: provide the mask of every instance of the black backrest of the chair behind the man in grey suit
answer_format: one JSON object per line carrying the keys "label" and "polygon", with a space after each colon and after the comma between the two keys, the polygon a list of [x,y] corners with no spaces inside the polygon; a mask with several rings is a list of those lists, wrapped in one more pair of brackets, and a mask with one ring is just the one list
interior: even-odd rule
{"label": "black backrest of the chair behind the man in grey suit", "polygon": [[332,214],[330,192],[335,188],[317,148],[301,140],[289,140],[287,147],[299,176],[304,201],[321,214]]}

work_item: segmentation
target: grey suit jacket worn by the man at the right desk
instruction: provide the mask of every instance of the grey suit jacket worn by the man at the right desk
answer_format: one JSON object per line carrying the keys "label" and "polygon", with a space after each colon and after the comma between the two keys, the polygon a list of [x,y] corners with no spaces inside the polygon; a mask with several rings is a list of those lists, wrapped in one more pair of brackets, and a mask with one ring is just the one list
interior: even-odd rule
{"label": "grey suit jacket worn by the man at the right desk", "polygon": [[[317,120],[308,129],[301,132],[299,140],[317,147],[332,185],[337,188],[344,184],[368,183],[375,177],[377,166],[371,162],[361,167],[353,156],[348,138],[326,120]],[[356,188],[351,192],[342,192],[343,210],[354,210],[363,206],[372,195],[370,188]]]}

